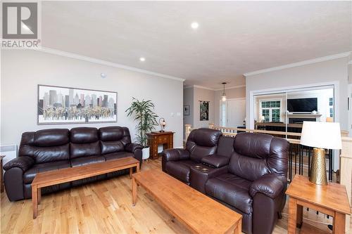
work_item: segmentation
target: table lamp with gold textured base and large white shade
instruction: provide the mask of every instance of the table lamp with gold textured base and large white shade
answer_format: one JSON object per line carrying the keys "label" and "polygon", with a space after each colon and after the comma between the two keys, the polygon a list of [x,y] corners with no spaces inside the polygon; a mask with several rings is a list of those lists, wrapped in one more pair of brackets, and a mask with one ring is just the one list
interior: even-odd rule
{"label": "table lamp with gold textured base and large white shade", "polygon": [[318,185],[327,185],[325,149],[342,148],[340,124],[304,121],[301,145],[313,147],[309,181]]}

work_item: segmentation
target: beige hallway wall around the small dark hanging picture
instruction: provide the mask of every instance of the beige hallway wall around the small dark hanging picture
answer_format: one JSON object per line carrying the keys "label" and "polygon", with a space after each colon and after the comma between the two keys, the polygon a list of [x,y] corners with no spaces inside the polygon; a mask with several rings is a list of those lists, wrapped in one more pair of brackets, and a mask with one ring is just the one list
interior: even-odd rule
{"label": "beige hallway wall around the small dark hanging picture", "polygon": [[[194,122],[193,126],[196,129],[201,127],[208,127],[209,123],[214,122],[214,94],[215,92],[210,89],[201,89],[194,87]],[[199,100],[209,101],[209,120],[208,121],[200,121],[200,103]]]}

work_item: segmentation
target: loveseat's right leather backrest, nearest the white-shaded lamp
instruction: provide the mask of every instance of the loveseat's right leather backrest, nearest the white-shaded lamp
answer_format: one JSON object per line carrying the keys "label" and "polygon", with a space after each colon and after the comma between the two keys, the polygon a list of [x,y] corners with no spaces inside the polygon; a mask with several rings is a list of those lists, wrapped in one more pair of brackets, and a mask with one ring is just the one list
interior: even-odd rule
{"label": "loveseat's right leather backrest, nearest the white-shaded lamp", "polygon": [[288,150],[289,143],[283,138],[266,134],[237,134],[229,171],[249,181],[272,172],[287,176]]}

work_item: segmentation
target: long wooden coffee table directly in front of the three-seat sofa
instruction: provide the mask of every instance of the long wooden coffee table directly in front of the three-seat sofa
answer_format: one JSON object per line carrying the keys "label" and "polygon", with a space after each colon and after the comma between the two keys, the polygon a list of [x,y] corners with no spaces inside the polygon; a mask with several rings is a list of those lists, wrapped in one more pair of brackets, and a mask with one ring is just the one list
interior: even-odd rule
{"label": "long wooden coffee table directly in front of the three-seat sofa", "polygon": [[41,188],[46,186],[54,186],[58,183],[76,181],[91,176],[99,176],[101,174],[127,168],[130,168],[130,178],[132,178],[132,169],[134,167],[136,167],[138,172],[139,161],[134,157],[124,157],[118,160],[88,164],[82,167],[70,167],[38,173],[32,181],[33,219],[37,218],[38,215],[38,204],[40,204]]}

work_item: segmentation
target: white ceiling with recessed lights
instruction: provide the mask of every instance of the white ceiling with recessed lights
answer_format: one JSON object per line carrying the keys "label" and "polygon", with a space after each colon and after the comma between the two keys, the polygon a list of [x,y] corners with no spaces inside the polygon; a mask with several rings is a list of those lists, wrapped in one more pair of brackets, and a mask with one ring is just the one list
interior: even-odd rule
{"label": "white ceiling with recessed lights", "polygon": [[351,12],[351,1],[44,1],[42,46],[221,89],[351,51]]}

